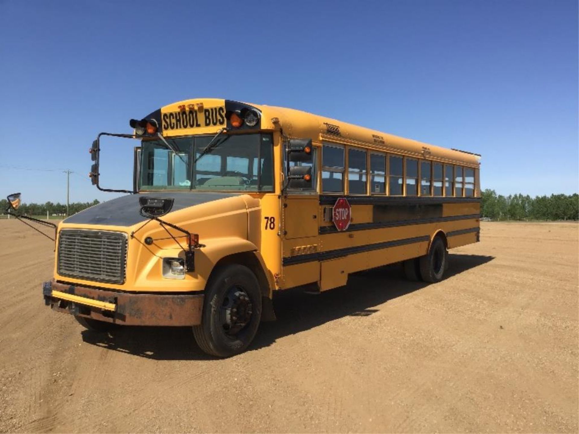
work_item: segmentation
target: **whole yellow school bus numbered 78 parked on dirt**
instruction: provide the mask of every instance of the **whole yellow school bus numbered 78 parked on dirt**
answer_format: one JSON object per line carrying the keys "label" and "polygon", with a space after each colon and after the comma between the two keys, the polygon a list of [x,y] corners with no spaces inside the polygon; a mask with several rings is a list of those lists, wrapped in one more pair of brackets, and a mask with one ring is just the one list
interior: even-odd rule
{"label": "whole yellow school bus numbered 78 parked on dirt", "polygon": [[[278,290],[324,292],[396,262],[438,282],[448,249],[479,240],[472,153],[221,99],[175,102],[130,126],[90,149],[93,183],[127,194],[58,225],[43,285],[47,306],[89,329],[192,326],[203,351],[231,356],[275,318]],[[99,179],[109,136],[137,144],[131,190]]]}

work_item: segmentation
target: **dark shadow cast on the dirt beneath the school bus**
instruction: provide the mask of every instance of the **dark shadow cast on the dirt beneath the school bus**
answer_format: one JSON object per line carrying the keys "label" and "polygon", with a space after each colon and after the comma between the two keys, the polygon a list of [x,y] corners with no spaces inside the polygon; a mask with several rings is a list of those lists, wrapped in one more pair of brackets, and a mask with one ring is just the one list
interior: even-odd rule
{"label": "dark shadow cast on the dirt beneath the school bus", "polygon": [[[446,278],[494,259],[494,256],[450,254]],[[323,325],[343,317],[368,317],[389,300],[426,287],[404,277],[400,264],[351,275],[348,284],[320,295],[301,289],[276,293],[273,303],[277,321],[259,327],[248,351],[269,347],[277,339]],[[210,360],[213,357],[197,347],[189,327],[126,327],[115,333],[82,332],[85,343],[155,360]]]}

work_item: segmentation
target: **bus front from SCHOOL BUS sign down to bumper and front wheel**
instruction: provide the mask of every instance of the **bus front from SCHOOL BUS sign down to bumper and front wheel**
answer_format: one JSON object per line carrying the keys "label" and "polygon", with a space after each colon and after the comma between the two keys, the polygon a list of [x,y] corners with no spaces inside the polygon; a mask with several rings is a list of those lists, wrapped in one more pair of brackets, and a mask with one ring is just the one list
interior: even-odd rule
{"label": "bus front from SCHOOL BUS sign down to bumper and front wheel", "polygon": [[[134,194],[58,226],[45,303],[89,329],[193,326],[204,351],[243,351],[273,317],[281,267],[280,151],[260,115],[239,103],[189,100],[146,117],[156,117],[157,131],[143,134],[149,126],[131,120],[141,139]],[[93,145],[97,163],[101,147]],[[92,177],[107,190],[98,164]]]}

